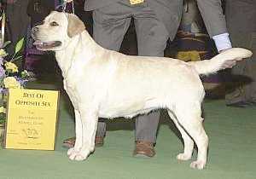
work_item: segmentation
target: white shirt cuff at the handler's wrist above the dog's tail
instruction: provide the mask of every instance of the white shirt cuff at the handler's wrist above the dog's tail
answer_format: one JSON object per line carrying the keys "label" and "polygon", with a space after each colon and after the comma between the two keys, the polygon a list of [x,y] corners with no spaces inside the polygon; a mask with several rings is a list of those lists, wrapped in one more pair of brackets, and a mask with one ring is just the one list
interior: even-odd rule
{"label": "white shirt cuff at the handler's wrist above the dog's tail", "polygon": [[230,42],[230,34],[229,33],[222,33],[216,36],[213,36],[212,39],[218,49],[218,52],[224,49],[232,48],[232,44]]}

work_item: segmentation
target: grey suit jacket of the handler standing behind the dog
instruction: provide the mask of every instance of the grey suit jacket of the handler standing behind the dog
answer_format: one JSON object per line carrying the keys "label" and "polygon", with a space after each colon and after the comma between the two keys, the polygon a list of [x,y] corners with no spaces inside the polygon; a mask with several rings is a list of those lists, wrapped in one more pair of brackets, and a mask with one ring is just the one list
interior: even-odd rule
{"label": "grey suit jacket of the handler standing behind the dog", "polygon": [[[128,0],[85,0],[84,10],[94,10],[110,3]],[[183,0],[145,0],[157,17],[163,21],[166,29],[170,32],[170,38],[174,38],[177,33],[182,12]],[[207,26],[207,32],[212,37],[226,30],[224,14],[221,9],[221,0],[197,0],[203,20]],[[111,6],[109,6],[111,8]]]}

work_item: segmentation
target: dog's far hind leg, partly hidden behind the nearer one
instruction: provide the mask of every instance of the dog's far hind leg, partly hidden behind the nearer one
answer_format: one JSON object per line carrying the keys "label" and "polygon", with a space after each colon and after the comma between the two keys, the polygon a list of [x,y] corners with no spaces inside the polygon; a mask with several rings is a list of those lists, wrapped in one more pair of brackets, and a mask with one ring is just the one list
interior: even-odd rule
{"label": "dog's far hind leg, partly hidden behind the nearer one", "polygon": [[172,118],[172,121],[177,127],[177,130],[181,133],[181,136],[183,137],[183,142],[184,142],[184,152],[179,153],[177,155],[177,159],[179,160],[188,160],[191,159],[193,149],[194,149],[194,141],[191,139],[191,137],[187,134],[185,130],[183,130],[183,127],[178,124],[177,118],[175,115],[173,115],[172,111],[168,110],[168,114],[170,118]]}

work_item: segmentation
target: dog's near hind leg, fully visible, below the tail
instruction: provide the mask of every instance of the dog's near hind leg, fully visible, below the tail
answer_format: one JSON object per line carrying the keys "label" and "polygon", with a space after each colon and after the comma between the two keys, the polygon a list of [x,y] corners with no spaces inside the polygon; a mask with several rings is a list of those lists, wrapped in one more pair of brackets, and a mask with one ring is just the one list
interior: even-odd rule
{"label": "dog's near hind leg, fully visible, below the tail", "polygon": [[191,136],[198,148],[197,160],[190,167],[203,169],[207,164],[208,136],[203,128],[201,118],[201,102],[187,101],[186,104],[179,103],[174,109],[179,124]]}

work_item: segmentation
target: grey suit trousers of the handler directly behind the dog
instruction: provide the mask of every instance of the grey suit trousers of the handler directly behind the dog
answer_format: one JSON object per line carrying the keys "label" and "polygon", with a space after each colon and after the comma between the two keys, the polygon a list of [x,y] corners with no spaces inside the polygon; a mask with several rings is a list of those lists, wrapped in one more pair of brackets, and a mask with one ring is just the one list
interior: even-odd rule
{"label": "grey suit trousers of the handler directly behind the dog", "polygon": [[[132,17],[137,32],[138,55],[163,56],[169,38],[166,26],[158,20],[148,3],[131,6],[128,2],[111,3],[94,10],[94,39],[102,47],[118,51]],[[155,142],[159,118],[160,112],[137,117],[136,141]],[[99,122],[96,136],[104,136],[105,131],[106,124]]]}

